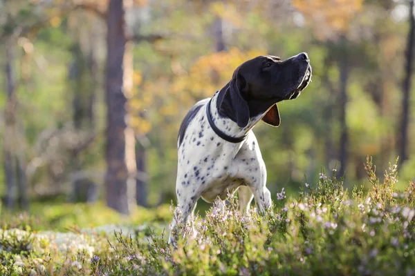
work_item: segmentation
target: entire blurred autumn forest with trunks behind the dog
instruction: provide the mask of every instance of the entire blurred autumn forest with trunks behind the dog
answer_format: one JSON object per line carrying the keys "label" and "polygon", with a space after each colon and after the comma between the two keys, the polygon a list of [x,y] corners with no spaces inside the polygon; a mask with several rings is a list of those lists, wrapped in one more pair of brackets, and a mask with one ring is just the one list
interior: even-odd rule
{"label": "entire blurred autumn forest with trunks behind the dog", "polygon": [[333,168],[364,183],[367,155],[380,177],[399,157],[406,186],[414,25],[406,0],[2,0],[1,212],[170,204],[181,119],[266,54],[313,66],[281,126],[255,128],[273,196]]}

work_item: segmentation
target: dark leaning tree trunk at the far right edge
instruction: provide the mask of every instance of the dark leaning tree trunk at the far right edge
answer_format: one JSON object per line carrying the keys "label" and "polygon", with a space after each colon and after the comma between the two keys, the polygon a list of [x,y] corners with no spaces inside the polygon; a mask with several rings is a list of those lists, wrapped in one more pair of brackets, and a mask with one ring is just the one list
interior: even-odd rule
{"label": "dark leaning tree trunk at the far right edge", "polygon": [[414,0],[409,1],[409,32],[407,37],[405,79],[403,80],[402,117],[400,119],[399,164],[408,158],[409,94],[412,82],[412,59],[414,58]]}

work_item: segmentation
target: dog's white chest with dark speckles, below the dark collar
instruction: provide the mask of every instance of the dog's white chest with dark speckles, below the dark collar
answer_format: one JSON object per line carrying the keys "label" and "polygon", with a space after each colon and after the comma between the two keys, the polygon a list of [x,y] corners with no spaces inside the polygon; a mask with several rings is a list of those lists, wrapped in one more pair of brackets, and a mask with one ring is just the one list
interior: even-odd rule
{"label": "dog's white chest with dark speckles, below the dark collar", "polygon": [[[226,119],[215,122],[226,130]],[[178,147],[178,190],[183,191],[179,196],[201,196],[212,202],[218,196],[225,199],[247,181],[253,183],[260,167],[256,143],[252,131],[241,143],[223,140],[210,128],[205,107],[200,108]]]}

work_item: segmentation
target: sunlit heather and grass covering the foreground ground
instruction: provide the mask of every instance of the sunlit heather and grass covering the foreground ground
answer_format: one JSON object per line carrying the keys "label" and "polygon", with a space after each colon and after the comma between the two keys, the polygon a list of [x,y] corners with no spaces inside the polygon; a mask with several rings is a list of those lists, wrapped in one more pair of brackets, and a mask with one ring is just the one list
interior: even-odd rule
{"label": "sunlit heather and grass covering the foreground ground", "polygon": [[297,197],[282,191],[265,215],[241,215],[234,197],[223,212],[214,204],[196,215],[196,238],[181,229],[176,248],[156,225],[44,233],[30,216],[15,218],[0,233],[0,274],[415,275],[415,184],[398,192],[396,164],[382,182],[371,159],[365,167],[368,191],[345,190],[333,170]]}

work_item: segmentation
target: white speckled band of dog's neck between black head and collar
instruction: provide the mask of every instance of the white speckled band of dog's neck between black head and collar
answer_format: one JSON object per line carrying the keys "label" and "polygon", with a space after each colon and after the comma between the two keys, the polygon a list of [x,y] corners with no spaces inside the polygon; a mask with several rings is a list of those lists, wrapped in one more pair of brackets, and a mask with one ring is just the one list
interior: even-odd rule
{"label": "white speckled band of dog's neck between black head and collar", "polygon": [[221,132],[225,133],[225,135],[230,137],[243,137],[255,126],[255,124],[257,124],[262,116],[259,115],[257,117],[250,117],[246,127],[239,127],[236,122],[232,121],[228,117],[221,115],[219,112],[218,99],[220,100],[223,97],[223,93],[225,93],[225,90],[219,90],[213,95],[212,99],[210,100],[210,114],[212,115],[213,124],[216,126],[216,128],[219,128]]}

